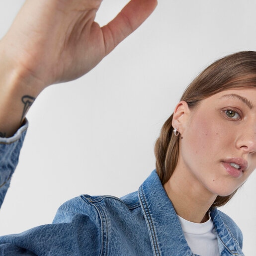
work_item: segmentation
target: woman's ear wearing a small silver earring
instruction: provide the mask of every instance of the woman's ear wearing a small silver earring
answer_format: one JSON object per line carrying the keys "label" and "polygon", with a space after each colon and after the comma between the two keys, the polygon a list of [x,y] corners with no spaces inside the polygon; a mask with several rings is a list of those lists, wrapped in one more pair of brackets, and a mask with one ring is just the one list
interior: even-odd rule
{"label": "woman's ear wearing a small silver earring", "polygon": [[180,101],[174,109],[171,125],[173,128],[176,128],[180,134],[182,134],[186,127],[189,113],[190,109],[187,102],[184,100]]}

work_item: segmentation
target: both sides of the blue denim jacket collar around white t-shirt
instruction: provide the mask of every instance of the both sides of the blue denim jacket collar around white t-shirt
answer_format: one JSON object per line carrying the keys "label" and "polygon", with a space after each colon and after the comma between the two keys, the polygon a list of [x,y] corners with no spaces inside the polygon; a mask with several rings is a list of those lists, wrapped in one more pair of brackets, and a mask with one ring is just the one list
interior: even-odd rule
{"label": "both sides of the blue denim jacket collar around white t-shirt", "polygon": [[[192,256],[171,200],[156,171],[140,186],[138,194],[155,256],[177,253]],[[231,255],[243,255],[216,208],[211,209],[211,218],[217,233],[219,251],[228,250]]]}

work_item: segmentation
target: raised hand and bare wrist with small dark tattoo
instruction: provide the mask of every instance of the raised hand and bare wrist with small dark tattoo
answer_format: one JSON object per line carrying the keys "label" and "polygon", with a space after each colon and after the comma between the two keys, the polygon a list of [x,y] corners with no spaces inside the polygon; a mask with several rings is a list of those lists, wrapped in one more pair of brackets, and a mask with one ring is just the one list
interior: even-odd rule
{"label": "raised hand and bare wrist with small dark tattoo", "polygon": [[0,41],[0,137],[16,131],[46,86],[83,76],[157,4],[130,0],[100,27],[94,18],[101,1],[26,0]]}

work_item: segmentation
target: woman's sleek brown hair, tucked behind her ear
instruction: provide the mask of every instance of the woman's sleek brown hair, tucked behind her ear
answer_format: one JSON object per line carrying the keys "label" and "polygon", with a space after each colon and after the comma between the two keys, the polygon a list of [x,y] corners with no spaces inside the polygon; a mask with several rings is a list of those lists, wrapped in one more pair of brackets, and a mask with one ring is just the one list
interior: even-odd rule
{"label": "woman's sleek brown hair, tucked behind her ear", "polygon": [[[215,93],[241,87],[256,88],[256,52],[238,52],[214,62],[188,85],[180,100],[193,108]],[[155,145],[156,169],[162,184],[170,179],[178,161],[179,137],[173,135],[172,117],[173,114],[163,125]],[[226,204],[236,191],[228,196],[217,196],[212,206]]]}

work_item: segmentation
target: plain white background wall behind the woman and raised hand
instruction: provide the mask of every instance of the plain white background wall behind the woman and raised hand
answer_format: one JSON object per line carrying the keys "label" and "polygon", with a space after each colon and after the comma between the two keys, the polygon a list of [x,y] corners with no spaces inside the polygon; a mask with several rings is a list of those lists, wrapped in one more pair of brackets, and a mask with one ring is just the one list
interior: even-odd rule
{"label": "plain white background wall behind the woman and raised hand", "polygon": [[[24,1],[0,2],[3,36]],[[127,0],[104,0],[103,25]],[[184,88],[227,54],[256,50],[254,0],[159,0],[152,16],[94,70],[43,91],[11,187],[0,210],[0,235],[50,223],[66,200],[122,196],[155,168],[154,142]],[[210,168],[210,167],[209,167]],[[256,174],[222,210],[255,253]]]}

